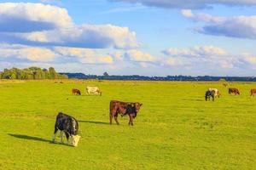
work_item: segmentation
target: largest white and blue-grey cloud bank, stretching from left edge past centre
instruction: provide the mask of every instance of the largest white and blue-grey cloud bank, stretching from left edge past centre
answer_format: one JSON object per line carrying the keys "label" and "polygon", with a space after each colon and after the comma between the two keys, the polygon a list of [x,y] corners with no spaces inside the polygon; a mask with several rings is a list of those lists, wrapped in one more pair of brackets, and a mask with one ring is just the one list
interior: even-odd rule
{"label": "largest white and blue-grey cloud bank, stretching from left edge past centre", "polygon": [[0,3],[0,42],[79,48],[137,48],[136,32],[113,25],[75,25],[65,8]]}

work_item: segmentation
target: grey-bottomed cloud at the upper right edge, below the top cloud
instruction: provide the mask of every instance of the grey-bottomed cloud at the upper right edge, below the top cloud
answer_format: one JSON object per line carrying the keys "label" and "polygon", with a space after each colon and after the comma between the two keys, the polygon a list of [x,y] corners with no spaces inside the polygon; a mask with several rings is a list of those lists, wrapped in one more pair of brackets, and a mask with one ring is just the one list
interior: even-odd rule
{"label": "grey-bottomed cloud at the upper right edge, below the top cloud", "polygon": [[190,20],[207,23],[195,31],[213,36],[256,39],[256,15],[215,17],[210,14],[193,14],[191,10],[182,10],[183,16]]}

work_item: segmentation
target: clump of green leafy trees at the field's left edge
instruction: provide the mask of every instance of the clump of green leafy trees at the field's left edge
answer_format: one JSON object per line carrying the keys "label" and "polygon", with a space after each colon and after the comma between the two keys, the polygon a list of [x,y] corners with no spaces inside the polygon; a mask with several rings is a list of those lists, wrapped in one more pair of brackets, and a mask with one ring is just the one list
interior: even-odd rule
{"label": "clump of green leafy trees at the field's left edge", "polygon": [[11,68],[0,71],[0,79],[42,80],[67,78],[67,75],[57,73],[53,67],[49,67],[49,70],[29,67],[26,69]]}

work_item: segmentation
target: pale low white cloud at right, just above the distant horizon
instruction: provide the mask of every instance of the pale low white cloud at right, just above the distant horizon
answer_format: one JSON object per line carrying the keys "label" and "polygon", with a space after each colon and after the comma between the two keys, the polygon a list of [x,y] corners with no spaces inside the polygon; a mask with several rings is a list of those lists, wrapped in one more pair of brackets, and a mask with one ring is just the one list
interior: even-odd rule
{"label": "pale low white cloud at right, just above the distant horizon", "polygon": [[[179,69],[189,68],[193,71],[217,71],[218,74],[228,71],[251,70],[256,65],[256,56],[252,54],[230,54],[223,48],[214,46],[195,46],[194,48],[168,48],[162,51],[166,59],[162,65]],[[207,73],[209,74],[209,73]],[[205,75],[207,75],[205,74]]]}

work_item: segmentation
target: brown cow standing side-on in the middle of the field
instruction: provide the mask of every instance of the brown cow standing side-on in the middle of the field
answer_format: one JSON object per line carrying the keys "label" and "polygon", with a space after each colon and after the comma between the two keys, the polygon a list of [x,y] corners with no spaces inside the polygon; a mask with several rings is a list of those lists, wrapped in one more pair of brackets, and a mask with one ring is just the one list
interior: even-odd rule
{"label": "brown cow standing side-on in the middle of the field", "polygon": [[133,126],[133,119],[137,116],[143,104],[139,102],[122,102],[117,100],[111,100],[109,105],[109,123],[112,124],[112,119],[119,125],[118,115],[121,116],[129,115],[129,125]]}

